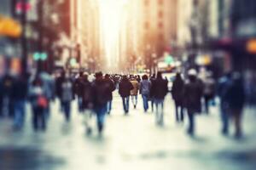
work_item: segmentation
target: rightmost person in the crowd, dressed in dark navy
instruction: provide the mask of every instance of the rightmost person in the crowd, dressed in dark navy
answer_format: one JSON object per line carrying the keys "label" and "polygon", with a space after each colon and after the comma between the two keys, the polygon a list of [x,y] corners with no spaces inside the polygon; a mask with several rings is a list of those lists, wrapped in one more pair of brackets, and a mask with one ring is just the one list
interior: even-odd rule
{"label": "rightmost person in the crowd, dressed in dark navy", "polygon": [[234,73],[233,81],[227,90],[227,104],[229,106],[230,116],[235,122],[235,137],[241,137],[241,116],[245,103],[245,91],[240,73]]}

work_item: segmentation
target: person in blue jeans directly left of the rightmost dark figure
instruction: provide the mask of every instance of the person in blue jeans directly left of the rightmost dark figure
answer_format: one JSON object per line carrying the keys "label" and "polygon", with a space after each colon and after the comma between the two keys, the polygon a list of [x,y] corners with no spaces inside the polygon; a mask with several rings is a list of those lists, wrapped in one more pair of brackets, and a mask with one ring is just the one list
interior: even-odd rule
{"label": "person in blue jeans directly left of the rightmost dark figure", "polygon": [[228,104],[228,90],[232,84],[232,74],[227,73],[224,77],[221,77],[218,81],[218,96],[220,99],[220,115],[222,120],[222,133],[224,135],[229,133],[229,104]]}

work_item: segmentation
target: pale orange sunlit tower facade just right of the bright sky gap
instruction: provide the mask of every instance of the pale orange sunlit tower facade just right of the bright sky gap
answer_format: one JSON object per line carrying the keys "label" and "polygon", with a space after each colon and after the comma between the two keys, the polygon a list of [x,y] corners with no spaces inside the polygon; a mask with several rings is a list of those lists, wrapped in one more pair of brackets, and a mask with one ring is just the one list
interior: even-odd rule
{"label": "pale orange sunlit tower facade just right of the bright sky gap", "polygon": [[143,48],[161,56],[177,40],[177,0],[142,2]]}

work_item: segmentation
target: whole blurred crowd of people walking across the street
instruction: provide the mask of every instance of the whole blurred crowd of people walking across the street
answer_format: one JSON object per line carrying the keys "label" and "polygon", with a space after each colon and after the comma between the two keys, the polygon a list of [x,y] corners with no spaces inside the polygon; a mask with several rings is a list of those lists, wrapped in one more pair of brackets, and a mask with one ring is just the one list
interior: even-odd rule
{"label": "whole blurred crowd of people walking across the street", "polygon": [[[211,73],[201,75],[194,69],[186,77],[177,72],[172,82],[172,99],[175,103],[176,121],[188,119],[188,133],[195,133],[195,116],[210,113],[209,107],[220,101],[222,133],[229,133],[229,122],[234,120],[236,137],[241,137],[241,116],[245,104],[245,91],[239,73],[227,73],[218,81]],[[155,113],[158,126],[164,125],[164,104],[169,93],[169,80],[161,72],[156,75],[105,74],[96,72],[93,76],[84,72],[79,75],[61,71],[54,75],[40,72],[34,76],[12,77],[6,75],[0,83],[0,116],[9,116],[14,120],[14,129],[24,125],[26,101],[32,111],[32,127],[35,131],[46,130],[50,117],[50,105],[55,99],[61,103],[60,111],[67,122],[72,115],[72,102],[78,102],[78,112],[84,114],[86,132],[92,132],[91,118],[96,116],[99,134],[105,127],[105,117],[112,111],[113,91],[118,90],[122,99],[125,116],[130,111],[130,100],[133,109],[137,109],[138,95],[143,99],[143,111],[149,106]],[[203,105],[204,104],[204,105]]]}

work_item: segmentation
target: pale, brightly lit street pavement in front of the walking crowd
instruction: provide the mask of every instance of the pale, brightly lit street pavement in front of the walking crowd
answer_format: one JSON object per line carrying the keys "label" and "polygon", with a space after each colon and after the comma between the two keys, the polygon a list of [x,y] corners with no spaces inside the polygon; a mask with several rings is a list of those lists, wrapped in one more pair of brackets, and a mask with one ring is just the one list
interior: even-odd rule
{"label": "pale, brightly lit street pavement in front of the walking crowd", "polygon": [[121,99],[113,97],[113,111],[107,116],[101,137],[86,135],[83,116],[73,102],[71,122],[65,122],[56,101],[51,107],[46,132],[32,130],[29,105],[26,126],[14,131],[8,118],[0,120],[0,170],[255,170],[256,113],[247,108],[243,116],[244,137],[240,140],[220,134],[218,106],[210,115],[196,116],[195,137],[186,134],[184,124],[175,122],[171,95],[166,97],[165,125],[155,124],[151,111],[143,112],[142,98],[137,109],[124,116]]}

